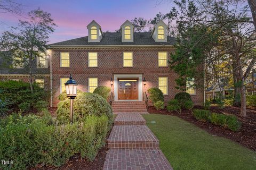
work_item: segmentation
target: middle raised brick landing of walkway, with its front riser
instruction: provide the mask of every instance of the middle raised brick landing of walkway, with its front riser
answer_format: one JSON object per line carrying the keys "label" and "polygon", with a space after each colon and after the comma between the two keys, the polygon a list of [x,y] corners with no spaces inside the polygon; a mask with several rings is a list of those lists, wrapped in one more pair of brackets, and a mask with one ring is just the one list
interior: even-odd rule
{"label": "middle raised brick landing of walkway, with its front riser", "polygon": [[109,148],[156,148],[159,141],[145,125],[115,125],[108,138]]}

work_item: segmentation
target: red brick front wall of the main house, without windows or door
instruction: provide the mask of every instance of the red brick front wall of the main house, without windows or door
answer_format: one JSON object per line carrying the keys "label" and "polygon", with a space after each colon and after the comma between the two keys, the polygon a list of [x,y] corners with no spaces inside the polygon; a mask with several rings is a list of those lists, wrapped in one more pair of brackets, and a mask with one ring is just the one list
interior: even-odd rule
{"label": "red brick front wall of the main house, without windows or door", "polygon": [[[60,67],[60,52],[69,52],[70,66]],[[98,52],[98,67],[88,67],[88,52]],[[133,52],[133,66],[123,67],[123,52]],[[78,89],[88,92],[88,78],[98,78],[98,86],[110,85],[114,74],[142,74],[146,79],[145,92],[151,87],[158,87],[158,77],[168,77],[168,95],[165,103],[180,92],[175,89],[177,75],[170,67],[158,67],[158,52],[167,52],[168,59],[173,52],[172,47],[127,47],[127,48],[52,48],[52,88],[54,92],[53,106],[57,106],[60,94],[60,78],[68,78],[69,73],[78,83]],[[114,92],[114,84],[112,87]],[[203,89],[196,90],[191,96],[195,104],[203,103]]]}

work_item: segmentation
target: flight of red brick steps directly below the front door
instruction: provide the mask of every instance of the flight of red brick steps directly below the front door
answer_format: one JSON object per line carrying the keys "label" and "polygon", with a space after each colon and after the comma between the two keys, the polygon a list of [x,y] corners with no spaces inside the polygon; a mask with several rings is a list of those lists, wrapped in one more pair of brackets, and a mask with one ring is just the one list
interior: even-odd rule
{"label": "flight of red brick steps directly below the front door", "polygon": [[113,112],[147,112],[145,101],[113,101]]}

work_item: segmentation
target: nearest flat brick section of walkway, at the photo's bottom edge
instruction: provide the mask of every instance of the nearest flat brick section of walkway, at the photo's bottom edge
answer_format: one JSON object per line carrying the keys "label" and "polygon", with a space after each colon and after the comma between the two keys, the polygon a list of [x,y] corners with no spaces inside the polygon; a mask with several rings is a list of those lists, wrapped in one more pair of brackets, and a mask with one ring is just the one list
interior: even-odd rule
{"label": "nearest flat brick section of walkway, at the photo's bottom edge", "polygon": [[104,170],[172,169],[159,148],[109,149]]}

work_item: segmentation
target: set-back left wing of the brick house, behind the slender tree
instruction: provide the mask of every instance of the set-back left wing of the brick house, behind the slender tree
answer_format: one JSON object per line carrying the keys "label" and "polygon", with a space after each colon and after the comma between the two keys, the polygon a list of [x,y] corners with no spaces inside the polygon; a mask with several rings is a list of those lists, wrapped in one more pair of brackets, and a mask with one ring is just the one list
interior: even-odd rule
{"label": "set-back left wing of the brick house, behind the slender tree", "polygon": [[[29,82],[29,70],[18,63],[11,52],[0,52],[0,80],[23,80]],[[33,66],[34,81],[41,87],[50,89],[50,63],[49,56],[42,54],[36,58]]]}

